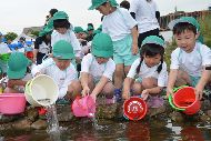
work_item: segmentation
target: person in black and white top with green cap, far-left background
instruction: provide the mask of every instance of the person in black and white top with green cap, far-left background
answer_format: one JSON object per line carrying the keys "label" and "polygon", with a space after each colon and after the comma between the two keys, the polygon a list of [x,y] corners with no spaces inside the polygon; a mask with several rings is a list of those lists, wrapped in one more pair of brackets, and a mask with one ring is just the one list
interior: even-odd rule
{"label": "person in black and white top with green cap, far-left background", "polygon": [[[50,21],[49,21],[50,22]],[[50,42],[51,42],[51,33],[52,31],[42,30],[39,37],[34,42],[34,51],[33,51],[33,61],[37,61],[37,64],[41,64],[44,57],[50,53]]]}

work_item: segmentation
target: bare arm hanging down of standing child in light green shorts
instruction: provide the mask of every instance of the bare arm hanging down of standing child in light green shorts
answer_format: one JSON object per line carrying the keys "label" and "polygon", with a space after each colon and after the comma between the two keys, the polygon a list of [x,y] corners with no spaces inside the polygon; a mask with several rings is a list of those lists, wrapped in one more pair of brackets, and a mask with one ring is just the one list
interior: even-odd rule
{"label": "bare arm hanging down of standing child in light green shorts", "polygon": [[135,56],[139,51],[139,47],[138,47],[138,31],[137,31],[137,27],[134,26],[131,29],[131,33],[132,33],[132,38],[133,38],[133,46],[132,46],[132,54]]}

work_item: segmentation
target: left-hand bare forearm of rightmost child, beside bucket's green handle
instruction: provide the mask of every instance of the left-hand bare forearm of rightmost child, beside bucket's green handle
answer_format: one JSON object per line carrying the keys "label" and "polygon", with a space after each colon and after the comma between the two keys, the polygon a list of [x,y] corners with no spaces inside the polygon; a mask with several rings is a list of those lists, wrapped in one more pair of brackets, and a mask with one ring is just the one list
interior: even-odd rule
{"label": "left-hand bare forearm of rightmost child, beside bucket's green handle", "polygon": [[167,84],[167,97],[168,98],[170,94],[173,95],[172,91],[173,91],[173,85],[177,80],[177,75],[178,75],[178,69],[171,69],[170,73],[169,73],[168,84]]}

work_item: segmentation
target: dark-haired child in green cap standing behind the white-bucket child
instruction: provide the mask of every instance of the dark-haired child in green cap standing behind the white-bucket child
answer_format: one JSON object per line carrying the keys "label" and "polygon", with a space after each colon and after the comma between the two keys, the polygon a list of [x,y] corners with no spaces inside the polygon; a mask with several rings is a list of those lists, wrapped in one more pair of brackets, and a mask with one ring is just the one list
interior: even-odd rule
{"label": "dark-haired child in green cap standing behind the white-bucket child", "polygon": [[[63,11],[58,11],[53,14],[53,27],[57,31],[54,31],[52,33],[51,37],[51,46],[52,48],[54,48],[54,43],[59,40],[66,40],[69,41],[72,47],[73,47],[73,51],[74,51],[74,59],[72,59],[71,63],[74,66],[74,68],[77,69],[77,63],[76,62],[80,62],[80,43],[74,34],[73,27],[72,24],[69,22],[69,17],[66,12]],[[62,47],[61,47],[62,48]]]}

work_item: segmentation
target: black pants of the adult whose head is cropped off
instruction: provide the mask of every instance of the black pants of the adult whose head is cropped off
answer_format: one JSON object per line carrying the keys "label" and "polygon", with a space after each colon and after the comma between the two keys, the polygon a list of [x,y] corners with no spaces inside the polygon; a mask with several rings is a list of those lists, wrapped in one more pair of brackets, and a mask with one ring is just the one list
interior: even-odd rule
{"label": "black pants of the adult whose head is cropped off", "polygon": [[139,33],[138,47],[141,48],[142,41],[149,36],[159,36],[159,29],[150,30],[143,33]]}

